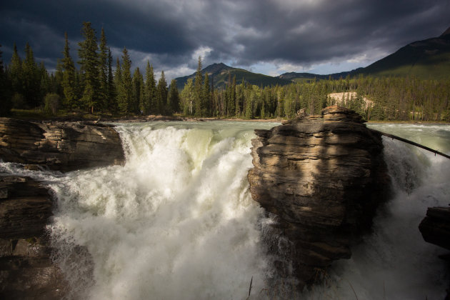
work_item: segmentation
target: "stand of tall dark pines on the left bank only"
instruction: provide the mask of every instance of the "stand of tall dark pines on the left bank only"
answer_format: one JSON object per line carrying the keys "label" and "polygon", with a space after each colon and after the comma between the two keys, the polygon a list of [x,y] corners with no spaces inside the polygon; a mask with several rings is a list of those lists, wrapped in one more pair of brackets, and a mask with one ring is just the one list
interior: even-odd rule
{"label": "stand of tall dark pines on the left bank only", "polygon": [[157,83],[149,61],[144,75],[139,68],[131,73],[131,59],[126,48],[113,68],[104,29],[101,29],[98,40],[91,23],[84,22],[81,35],[84,40],[79,42],[79,68],[71,58],[65,34],[62,58],[54,74],[46,71],[43,62],[36,63],[28,43],[24,59],[20,58],[14,44],[11,64],[6,67],[0,52],[0,115],[8,115],[11,108],[37,107],[49,113],[64,109],[111,115],[172,114],[180,111],[176,82],[171,82],[169,91],[164,71],[161,71]]}

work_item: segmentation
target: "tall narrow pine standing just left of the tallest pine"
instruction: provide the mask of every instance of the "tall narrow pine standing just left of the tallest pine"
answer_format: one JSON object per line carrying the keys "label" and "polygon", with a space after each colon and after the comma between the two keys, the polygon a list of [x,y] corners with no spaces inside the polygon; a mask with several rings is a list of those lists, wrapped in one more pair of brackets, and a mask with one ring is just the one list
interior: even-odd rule
{"label": "tall narrow pine standing just left of the tallest pine", "polygon": [[[61,60],[63,68],[62,87],[64,92],[64,106],[69,109],[76,108],[76,82],[75,82],[75,64],[70,56],[69,39],[67,39],[67,32],[64,33],[66,44],[64,45],[63,59]],[[56,92],[56,91],[55,91]]]}

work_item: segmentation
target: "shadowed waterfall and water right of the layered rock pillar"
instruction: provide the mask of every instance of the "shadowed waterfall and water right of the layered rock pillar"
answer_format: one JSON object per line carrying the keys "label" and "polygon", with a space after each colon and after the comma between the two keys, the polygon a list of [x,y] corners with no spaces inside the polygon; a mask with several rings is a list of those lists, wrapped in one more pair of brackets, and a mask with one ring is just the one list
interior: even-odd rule
{"label": "shadowed waterfall and water right of the layered rock pillar", "polygon": [[[369,127],[450,153],[450,126],[371,124]],[[444,299],[448,251],[426,243],[418,226],[430,206],[450,204],[450,160],[383,137],[394,196],[374,219],[373,233],[336,261],[323,286],[306,299]]]}

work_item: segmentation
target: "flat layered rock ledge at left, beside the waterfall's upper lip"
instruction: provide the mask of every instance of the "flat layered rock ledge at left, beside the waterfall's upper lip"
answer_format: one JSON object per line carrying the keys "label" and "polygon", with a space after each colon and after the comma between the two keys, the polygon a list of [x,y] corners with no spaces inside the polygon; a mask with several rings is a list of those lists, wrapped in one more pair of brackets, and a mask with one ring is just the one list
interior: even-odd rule
{"label": "flat layered rock ledge at left, beside the waterfall's upper lip", "polygon": [[120,164],[124,151],[111,126],[0,118],[0,159],[71,171]]}

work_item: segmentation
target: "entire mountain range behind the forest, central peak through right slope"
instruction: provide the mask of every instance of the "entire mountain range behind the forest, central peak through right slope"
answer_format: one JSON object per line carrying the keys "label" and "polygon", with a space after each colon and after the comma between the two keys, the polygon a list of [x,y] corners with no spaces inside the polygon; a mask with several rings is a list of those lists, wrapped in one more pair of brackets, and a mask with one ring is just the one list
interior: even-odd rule
{"label": "entire mountain range behind the forest, central peak through right slope", "polygon": [[[318,75],[312,73],[284,73],[272,77],[264,74],[252,73],[244,69],[233,68],[226,64],[211,64],[201,70],[202,74],[208,73],[214,80],[214,88],[224,87],[229,81],[229,76],[236,76],[236,83],[242,80],[257,86],[286,85],[291,82],[311,81],[313,79],[339,79],[346,76],[359,74],[370,76],[416,76],[420,79],[446,79],[450,77],[450,27],[441,36],[414,41],[401,47],[365,68],[352,71]],[[176,86],[183,89],[187,79],[195,78],[195,73],[189,76],[176,78]]]}

